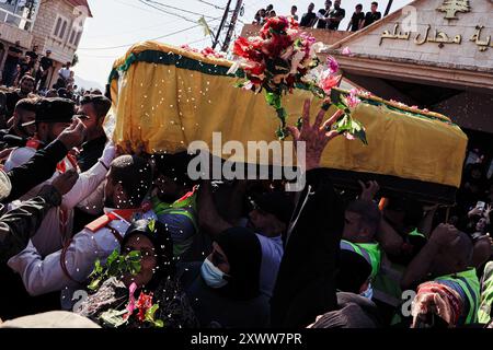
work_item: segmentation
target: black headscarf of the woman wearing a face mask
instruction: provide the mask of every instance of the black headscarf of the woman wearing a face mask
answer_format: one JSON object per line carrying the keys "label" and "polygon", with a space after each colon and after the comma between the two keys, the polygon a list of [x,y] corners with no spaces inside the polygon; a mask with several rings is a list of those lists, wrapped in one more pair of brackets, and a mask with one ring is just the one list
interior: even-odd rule
{"label": "black headscarf of the woman wearing a face mask", "polygon": [[262,262],[259,237],[248,229],[232,228],[220,233],[215,242],[225,252],[230,266],[228,284],[220,292],[237,300],[259,296]]}

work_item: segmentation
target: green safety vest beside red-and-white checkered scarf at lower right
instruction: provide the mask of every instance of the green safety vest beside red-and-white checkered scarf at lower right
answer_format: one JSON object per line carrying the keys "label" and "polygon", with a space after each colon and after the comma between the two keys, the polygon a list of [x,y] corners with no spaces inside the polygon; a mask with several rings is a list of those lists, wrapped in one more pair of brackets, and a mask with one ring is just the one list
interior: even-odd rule
{"label": "green safety vest beside red-and-white checkered scarf at lower right", "polygon": [[452,275],[447,275],[434,279],[434,281],[450,281],[460,287],[465,292],[469,301],[469,312],[466,317],[466,325],[473,324],[478,322],[478,310],[480,301],[480,283],[478,276],[475,275],[475,269],[472,268],[467,271],[457,272]]}

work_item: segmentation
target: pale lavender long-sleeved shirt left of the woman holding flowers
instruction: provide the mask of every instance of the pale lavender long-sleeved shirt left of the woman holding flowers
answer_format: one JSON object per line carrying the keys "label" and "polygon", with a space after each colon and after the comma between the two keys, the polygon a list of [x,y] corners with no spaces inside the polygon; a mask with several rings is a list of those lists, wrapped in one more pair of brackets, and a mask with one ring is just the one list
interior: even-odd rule
{"label": "pale lavender long-sleeved shirt left of the woman holding flowers", "polygon": [[[138,219],[156,220],[157,217],[153,211],[148,211]],[[104,265],[113,250],[119,249],[119,242],[108,226],[124,237],[130,222],[117,217],[96,232],[84,229],[74,235],[65,254],[67,271],[71,278],[61,268],[61,249],[43,258],[31,243],[22,253],[11,258],[8,265],[21,275],[31,295],[61,291],[62,307],[70,308],[73,292],[85,289],[84,283],[94,269],[94,262],[99,259]]]}

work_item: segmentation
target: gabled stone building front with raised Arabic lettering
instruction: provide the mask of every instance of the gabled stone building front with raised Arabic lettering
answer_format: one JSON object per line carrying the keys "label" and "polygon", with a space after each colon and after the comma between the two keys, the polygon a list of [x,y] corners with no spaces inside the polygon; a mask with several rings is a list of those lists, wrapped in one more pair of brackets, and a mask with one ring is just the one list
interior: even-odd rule
{"label": "gabled stone building front with raised Arabic lettering", "polygon": [[[415,0],[326,49],[383,98],[493,133],[493,1]],[[348,47],[352,55],[341,55]]]}

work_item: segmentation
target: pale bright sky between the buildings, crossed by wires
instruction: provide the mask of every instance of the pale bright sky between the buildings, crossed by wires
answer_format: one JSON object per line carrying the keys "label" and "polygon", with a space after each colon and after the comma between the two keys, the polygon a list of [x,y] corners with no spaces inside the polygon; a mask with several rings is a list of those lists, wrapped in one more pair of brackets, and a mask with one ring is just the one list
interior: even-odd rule
{"label": "pale bright sky between the buildings, crossed by wires", "polygon": [[[210,37],[204,36],[204,30],[197,25],[204,15],[213,31],[219,26],[227,0],[152,0],[167,5],[164,13],[146,5],[144,0],[89,0],[92,19],[84,24],[84,32],[79,44],[79,63],[74,67],[76,74],[89,82],[104,85],[113,62],[125,55],[135,43],[154,39],[159,42],[204,48],[211,46]],[[243,23],[251,23],[255,12],[272,3],[278,15],[289,14],[293,4],[298,7],[298,15],[307,12],[308,4],[313,0],[244,0],[244,14],[240,18]],[[378,0],[377,0],[378,1]],[[324,5],[324,0],[314,0],[316,9]],[[383,12],[388,0],[380,0],[380,11]],[[395,11],[410,0],[394,0],[392,10]],[[232,3],[236,3],[233,0]],[[354,7],[363,3],[364,11],[369,11],[371,0],[342,0],[342,8],[346,10],[346,18],[342,27],[347,26]],[[173,9],[174,8],[174,9]],[[222,8],[222,9],[221,9]],[[161,7],[162,9],[162,7]],[[186,10],[181,11],[181,10]],[[242,27],[239,22],[238,32]],[[183,31],[183,32],[181,32]],[[91,86],[84,86],[91,88]]]}

